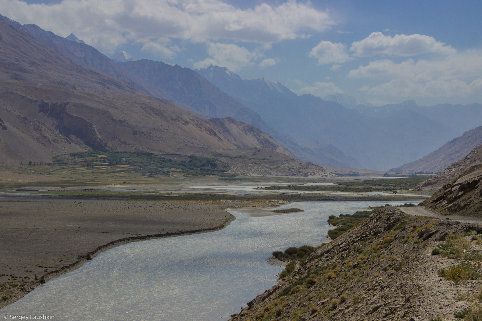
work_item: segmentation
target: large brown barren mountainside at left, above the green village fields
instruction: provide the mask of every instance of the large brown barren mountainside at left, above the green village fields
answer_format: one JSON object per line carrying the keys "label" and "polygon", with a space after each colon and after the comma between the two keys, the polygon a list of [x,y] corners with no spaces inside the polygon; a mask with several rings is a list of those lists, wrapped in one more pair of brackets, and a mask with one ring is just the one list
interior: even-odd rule
{"label": "large brown barren mountainside at left, above the green village fields", "polygon": [[[0,37],[0,117],[7,128],[2,130],[3,162],[46,161],[82,145],[204,155],[236,149],[216,128],[179,107],[141,96],[142,91],[122,79],[71,63],[3,20]],[[25,128],[34,119],[41,123],[37,134]],[[13,135],[8,140],[7,132]],[[15,141],[26,141],[26,146]],[[26,153],[12,153],[22,148]]]}

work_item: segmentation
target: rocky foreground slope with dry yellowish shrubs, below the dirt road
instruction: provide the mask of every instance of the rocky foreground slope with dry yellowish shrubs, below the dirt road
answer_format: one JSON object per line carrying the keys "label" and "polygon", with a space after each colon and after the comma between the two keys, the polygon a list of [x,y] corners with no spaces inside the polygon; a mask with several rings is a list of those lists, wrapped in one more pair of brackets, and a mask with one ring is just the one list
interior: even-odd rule
{"label": "rocky foreground slope with dry yellowish shrubs, below the dirt road", "polygon": [[[387,206],[313,252],[230,320],[452,320],[478,300],[479,281],[464,274],[454,282],[438,271],[465,264],[480,272],[482,246],[461,236],[469,231],[482,226]],[[460,246],[453,258],[431,255],[439,244]]]}

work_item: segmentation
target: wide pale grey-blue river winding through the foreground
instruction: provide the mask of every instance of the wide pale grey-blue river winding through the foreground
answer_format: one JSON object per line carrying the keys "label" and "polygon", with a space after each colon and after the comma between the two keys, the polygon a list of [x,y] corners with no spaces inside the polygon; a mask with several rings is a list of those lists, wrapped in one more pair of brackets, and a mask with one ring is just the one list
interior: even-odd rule
{"label": "wide pale grey-blue river winding through the foreground", "polygon": [[[271,252],[324,239],[330,215],[377,201],[297,202],[305,212],[248,217],[220,231],[124,244],[2,308],[2,315],[55,320],[221,321],[277,282]],[[399,205],[404,202],[389,202]],[[10,317],[9,319],[10,320]]]}

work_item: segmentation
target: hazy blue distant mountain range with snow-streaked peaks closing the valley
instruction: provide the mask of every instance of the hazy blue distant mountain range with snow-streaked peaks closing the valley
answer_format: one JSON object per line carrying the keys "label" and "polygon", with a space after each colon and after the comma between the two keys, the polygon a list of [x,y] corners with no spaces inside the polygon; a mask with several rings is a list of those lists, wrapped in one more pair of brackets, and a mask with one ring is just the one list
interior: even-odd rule
{"label": "hazy blue distant mountain range with snow-streaked peaks closing the valley", "polygon": [[297,96],[266,78],[243,80],[213,65],[198,72],[299,145],[313,139],[332,144],[370,169],[408,163],[457,136],[452,128],[409,109],[384,118],[367,116],[309,94]]}

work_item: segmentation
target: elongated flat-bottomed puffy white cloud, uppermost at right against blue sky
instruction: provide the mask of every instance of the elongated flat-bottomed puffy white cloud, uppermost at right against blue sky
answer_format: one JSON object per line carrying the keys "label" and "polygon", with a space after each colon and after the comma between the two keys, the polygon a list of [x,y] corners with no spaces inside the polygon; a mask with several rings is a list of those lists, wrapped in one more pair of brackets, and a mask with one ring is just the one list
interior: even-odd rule
{"label": "elongated flat-bottomed puffy white cloud, uppermost at right against blue sky", "polygon": [[455,49],[444,46],[443,42],[425,35],[384,36],[381,32],[373,32],[367,38],[351,44],[350,51],[359,57],[370,57],[375,54],[394,56],[415,56],[427,52],[454,54]]}

